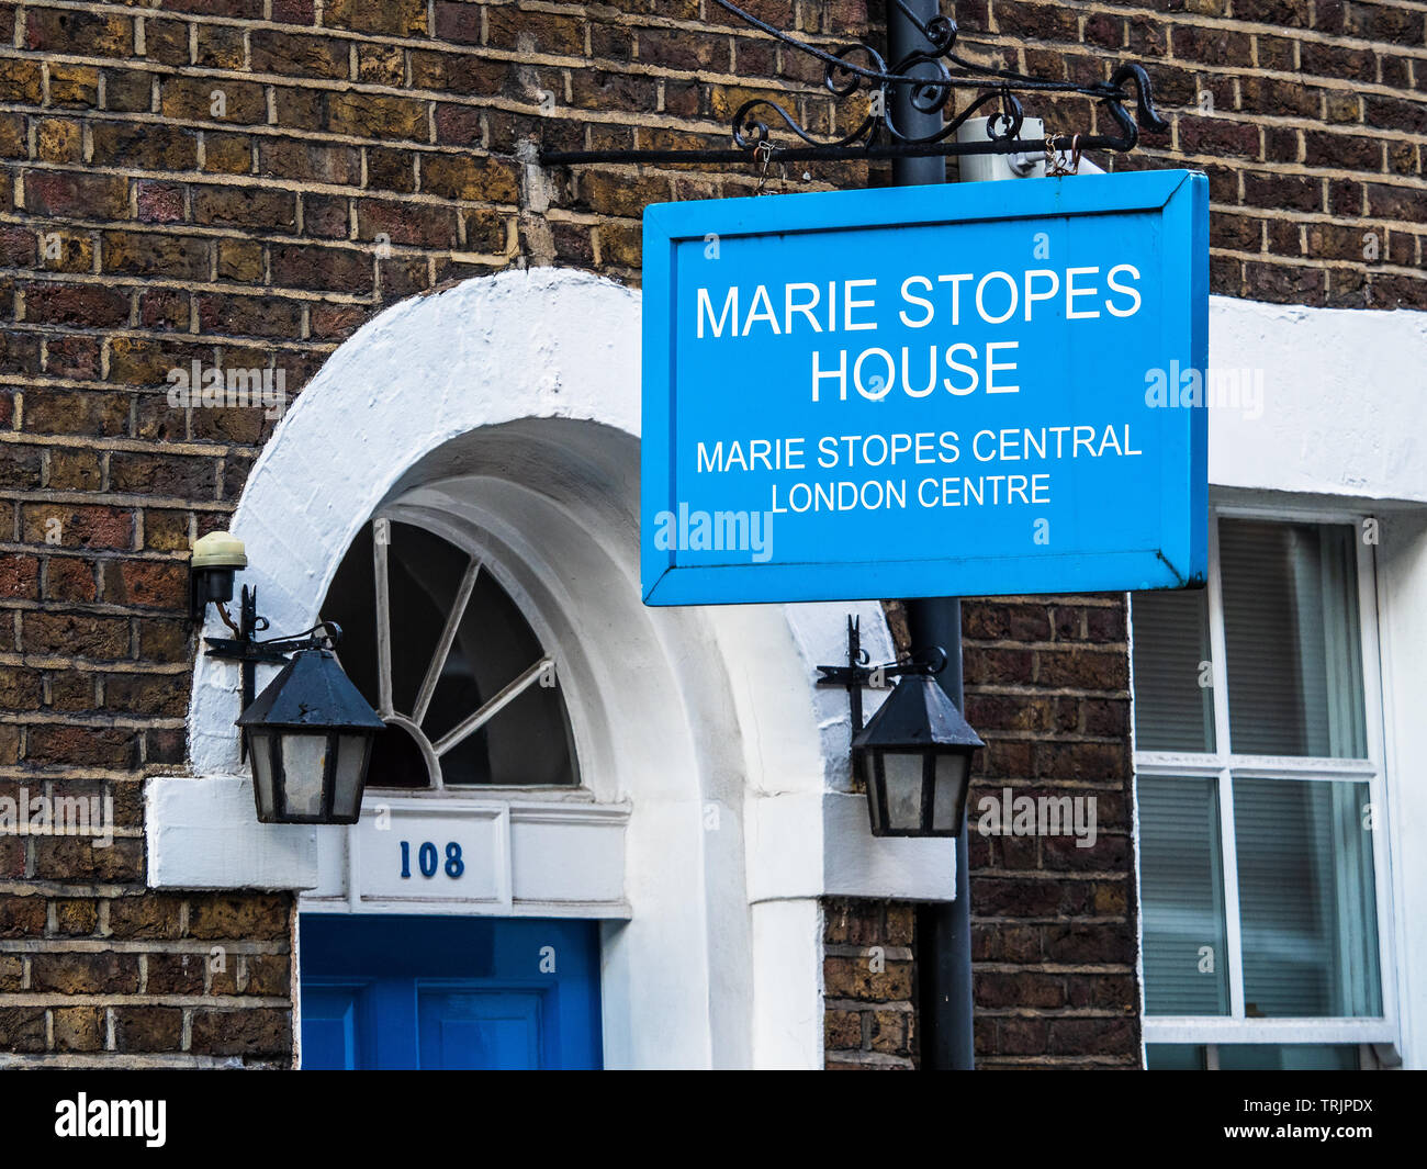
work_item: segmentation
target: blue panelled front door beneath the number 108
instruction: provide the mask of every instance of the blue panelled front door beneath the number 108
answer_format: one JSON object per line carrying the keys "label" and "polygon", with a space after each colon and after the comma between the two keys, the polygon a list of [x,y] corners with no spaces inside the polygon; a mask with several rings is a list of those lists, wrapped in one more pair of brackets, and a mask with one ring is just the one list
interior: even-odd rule
{"label": "blue panelled front door beneath the number 108", "polygon": [[595,922],[304,914],[303,1066],[598,1068]]}

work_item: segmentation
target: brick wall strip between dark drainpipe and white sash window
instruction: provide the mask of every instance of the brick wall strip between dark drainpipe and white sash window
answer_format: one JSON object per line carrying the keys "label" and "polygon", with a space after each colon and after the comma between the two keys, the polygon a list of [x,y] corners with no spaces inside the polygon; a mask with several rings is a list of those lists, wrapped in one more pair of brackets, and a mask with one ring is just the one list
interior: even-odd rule
{"label": "brick wall strip between dark drainpipe and white sash window", "polygon": [[[1126,618],[1117,595],[962,608],[966,718],[986,742],[968,799],[982,1068],[1140,1062]],[[1095,844],[977,831],[1006,791],[1093,799]]]}

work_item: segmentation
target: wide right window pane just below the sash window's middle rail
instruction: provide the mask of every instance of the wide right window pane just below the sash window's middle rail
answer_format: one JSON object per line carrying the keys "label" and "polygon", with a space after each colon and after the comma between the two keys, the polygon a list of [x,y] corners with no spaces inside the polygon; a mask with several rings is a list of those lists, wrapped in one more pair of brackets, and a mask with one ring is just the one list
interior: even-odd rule
{"label": "wide right window pane just below the sash window's middle rail", "polygon": [[1244,1011],[1381,1013],[1367,784],[1236,779]]}

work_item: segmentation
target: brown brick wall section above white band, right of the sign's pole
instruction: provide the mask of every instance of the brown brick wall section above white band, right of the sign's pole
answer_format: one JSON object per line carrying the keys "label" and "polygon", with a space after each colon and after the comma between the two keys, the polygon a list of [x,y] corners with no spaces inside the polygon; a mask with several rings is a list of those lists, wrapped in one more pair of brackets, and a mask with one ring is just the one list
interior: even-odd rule
{"label": "brown brick wall section above white band, right of the sign's pole", "polygon": [[[1122,54],[1150,70],[1172,130],[1112,168],[1209,174],[1214,293],[1427,308],[1427,6],[958,0],[955,13],[980,60],[1077,81]],[[1056,107],[1056,128],[1087,124],[1083,101]]]}

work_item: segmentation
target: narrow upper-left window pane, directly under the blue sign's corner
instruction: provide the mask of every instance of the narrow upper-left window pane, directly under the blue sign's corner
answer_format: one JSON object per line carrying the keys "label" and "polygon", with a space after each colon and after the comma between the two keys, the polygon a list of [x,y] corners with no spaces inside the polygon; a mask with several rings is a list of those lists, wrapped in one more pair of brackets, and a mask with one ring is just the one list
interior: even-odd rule
{"label": "narrow upper-left window pane, directly under the blue sign's corner", "polygon": [[1136,592],[1134,745],[1140,751],[1213,751],[1209,594]]}

